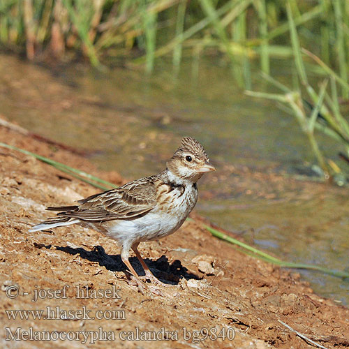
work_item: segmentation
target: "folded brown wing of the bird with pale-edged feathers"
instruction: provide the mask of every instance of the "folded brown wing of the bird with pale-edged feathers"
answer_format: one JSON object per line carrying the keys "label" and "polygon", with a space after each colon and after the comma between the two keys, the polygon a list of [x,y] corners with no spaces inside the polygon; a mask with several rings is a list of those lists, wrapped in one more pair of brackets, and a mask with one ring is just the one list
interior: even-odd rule
{"label": "folded brown wing of the bird with pale-edged feathers", "polygon": [[60,212],[58,216],[83,221],[132,218],[145,214],[156,206],[156,184],[152,177],[147,177],[78,202],[80,205],[75,209]]}

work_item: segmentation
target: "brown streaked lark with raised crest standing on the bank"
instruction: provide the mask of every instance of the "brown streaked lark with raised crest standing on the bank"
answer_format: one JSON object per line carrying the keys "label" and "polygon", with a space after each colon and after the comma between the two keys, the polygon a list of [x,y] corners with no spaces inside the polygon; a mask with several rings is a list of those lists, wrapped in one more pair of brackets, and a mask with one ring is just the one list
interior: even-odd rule
{"label": "brown streaked lark with raised crest standing on the bank", "polygon": [[[151,283],[168,285],[151,273],[138,245],[178,230],[198,201],[198,179],[215,170],[202,145],[194,138],[184,137],[162,172],[78,200],[79,205],[47,207],[59,213],[29,231],[73,224],[92,228],[117,240],[121,246],[121,260],[141,291],[144,278]],[[142,279],[128,260],[131,248],[144,269]]]}

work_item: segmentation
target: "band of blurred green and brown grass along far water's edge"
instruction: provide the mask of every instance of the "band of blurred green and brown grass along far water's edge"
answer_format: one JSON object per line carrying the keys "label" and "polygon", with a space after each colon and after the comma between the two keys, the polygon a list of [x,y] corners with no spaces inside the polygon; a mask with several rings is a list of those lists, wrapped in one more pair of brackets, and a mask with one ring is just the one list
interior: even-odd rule
{"label": "band of blurred green and brown grass along far water's edge", "polygon": [[[241,66],[246,82],[249,59],[259,59],[269,73],[270,59],[290,58],[289,34],[299,27],[311,36],[302,38],[306,48],[348,84],[348,11],[341,0],[2,0],[0,43],[29,59],[80,52],[94,66],[122,59],[144,64],[149,73],[159,57],[172,56],[178,71],[184,50],[193,60],[216,50],[233,71]],[[348,89],[339,95],[348,98]]]}

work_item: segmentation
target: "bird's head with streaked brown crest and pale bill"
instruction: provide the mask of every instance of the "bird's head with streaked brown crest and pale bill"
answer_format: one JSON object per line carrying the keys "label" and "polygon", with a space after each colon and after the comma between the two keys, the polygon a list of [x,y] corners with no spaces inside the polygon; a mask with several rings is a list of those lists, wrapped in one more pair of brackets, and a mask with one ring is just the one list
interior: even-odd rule
{"label": "bird's head with streaked brown crest and pale bill", "polygon": [[167,167],[174,176],[193,183],[196,183],[205,172],[216,170],[209,163],[209,157],[202,145],[191,137],[181,140],[181,146],[167,162]]}

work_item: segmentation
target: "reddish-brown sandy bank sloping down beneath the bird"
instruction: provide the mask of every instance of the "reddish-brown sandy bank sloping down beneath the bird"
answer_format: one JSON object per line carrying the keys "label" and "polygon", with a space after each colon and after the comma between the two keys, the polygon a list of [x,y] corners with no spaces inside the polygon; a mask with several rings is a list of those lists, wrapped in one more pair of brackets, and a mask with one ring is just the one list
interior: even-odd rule
{"label": "reddish-brown sandy bank sloping down beneath the bird", "polygon": [[[68,150],[7,128],[0,127],[0,141],[124,182],[116,172],[98,172]],[[298,274],[211,237],[195,216],[174,235],[140,245],[154,274],[170,285],[160,288],[162,295],[142,295],[126,282],[117,244],[98,232],[28,232],[50,216],[45,207],[71,205],[96,188],[3,148],[0,181],[1,348],[312,346],[280,321],[325,348],[349,347],[346,307],[315,295]],[[133,255],[131,263],[142,273]]]}

